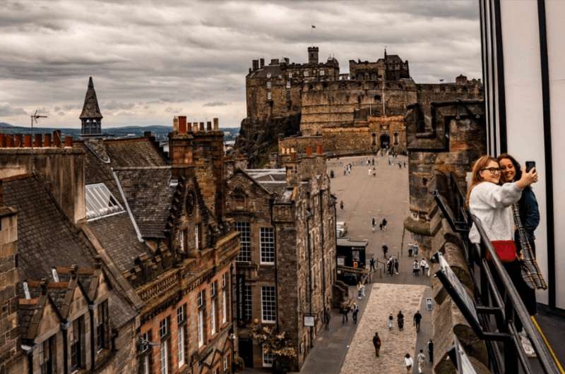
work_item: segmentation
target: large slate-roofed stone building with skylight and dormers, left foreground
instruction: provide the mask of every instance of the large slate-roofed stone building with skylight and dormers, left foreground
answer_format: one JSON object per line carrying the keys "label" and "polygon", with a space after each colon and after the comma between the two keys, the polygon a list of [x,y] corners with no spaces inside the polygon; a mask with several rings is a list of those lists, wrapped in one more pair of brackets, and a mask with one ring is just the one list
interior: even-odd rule
{"label": "large slate-roofed stone building with skylight and dormers, left foreground", "polygon": [[239,233],[218,120],[176,119],[170,159],[145,135],[0,135],[9,373],[231,372]]}

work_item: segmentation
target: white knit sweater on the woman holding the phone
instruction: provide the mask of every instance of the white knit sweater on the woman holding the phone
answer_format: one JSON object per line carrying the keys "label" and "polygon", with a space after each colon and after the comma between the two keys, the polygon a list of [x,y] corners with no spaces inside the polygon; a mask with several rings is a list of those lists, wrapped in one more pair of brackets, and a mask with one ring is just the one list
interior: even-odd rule
{"label": "white knit sweater on the woman holding the phone", "polygon": [[[502,186],[491,182],[477,184],[469,196],[469,210],[482,224],[484,232],[491,241],[514,239],[514,221],[511,205],[517,203],[522,190],[516,183]],[[469,231],[471,243],[480,243],[480,235],[475,224]]]}

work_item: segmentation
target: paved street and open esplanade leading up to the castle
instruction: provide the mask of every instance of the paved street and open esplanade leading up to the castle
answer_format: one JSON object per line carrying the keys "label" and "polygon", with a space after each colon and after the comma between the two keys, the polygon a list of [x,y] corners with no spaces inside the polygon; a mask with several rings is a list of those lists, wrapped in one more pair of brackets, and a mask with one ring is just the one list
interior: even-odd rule
{"label": "paved street and open esplanade leading up to the castle", "polygon": [[[372,157],[369,157],[372,159]],[[404,162],[407,157],[391,159],[375,157],[376,176],[369,176],[367,157],[347,157],[328,161],[328,172],[333,170],[332,192],[343,200],[343,210],[338,207],[338,221],[347,223],[346,236],[351,239],[369,241],[367,263],[374,258],[381,261],[374,273],[373,284],[367,286],[367,295],[355,299],[360,308],[359,323],[350,321],[342,324],[338,310],[333,310],[329,331],[323,331],[314,344],[301,373],[405,373],[404,356],[409,353],[415,361],[413,373],[418,373],[416,354],[424,349],[432,336],[431,311],[425,310],[425,301],[431,297],[431,284],[427,276],[412,275],[414,257],[408,257],[407,244],[410,235],[404,237],[403,220],[408,214],[408,169]],[[344,176],[346,164],[353,164],[350,175]],[[402,169],[398,167],[402,164]],[[371,164],[371,169],[373,168]],[[371,219],[377,223],[386,218],[386,230],[371,229]],[[400,260],[399,274],[386,275],[383,269],[383,251],[388,246],[388,255]],[[419,258],[420,259],[420,258]],[[355,286],[352,294],[356,294]],[[405,315],[405,328],[398,330],[396,315],[399,310]],[[412,318],[416,310],[422,313],[422,325],[416,334]],[[392,330],[386,327],[389,313],[394,315]],[[357,328],[359,326],[359,328]],[[381,356],[375,357],[372,344],[374,332],[378,331],[383,341]],[[430,366],[424,366],[423,373],[430,373]]]}

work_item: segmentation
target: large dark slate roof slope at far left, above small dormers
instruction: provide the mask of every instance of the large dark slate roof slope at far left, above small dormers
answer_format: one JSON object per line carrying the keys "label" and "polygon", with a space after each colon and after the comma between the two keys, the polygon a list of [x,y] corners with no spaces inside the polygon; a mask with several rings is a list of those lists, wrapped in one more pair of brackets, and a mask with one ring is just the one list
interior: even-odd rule
{"label": "large dark slate roof slope at far left, above small dormers", "polygon": [[20,279],[50,277],[57,266],[93,267],[88,247],[35,176],[5,179],[3,186],[4,203],[18,208]]}

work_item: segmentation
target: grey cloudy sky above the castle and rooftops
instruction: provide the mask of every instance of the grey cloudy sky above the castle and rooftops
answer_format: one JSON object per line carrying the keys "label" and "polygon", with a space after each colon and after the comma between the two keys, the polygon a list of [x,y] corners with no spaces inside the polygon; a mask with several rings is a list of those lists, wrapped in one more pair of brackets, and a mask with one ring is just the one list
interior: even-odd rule
{"label": "grey cloudy sky above the castle and rooftops", "polygon": [[481,77],[477,0],[1,3],[0,122],[14,125],[40,109],[41,126],[80,127],[93,76],[103,127],[239,126],[251,60],[304,62],[312,43],[341,73],[386,46],[418,83]]}

